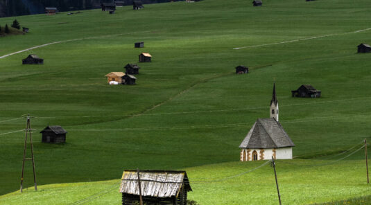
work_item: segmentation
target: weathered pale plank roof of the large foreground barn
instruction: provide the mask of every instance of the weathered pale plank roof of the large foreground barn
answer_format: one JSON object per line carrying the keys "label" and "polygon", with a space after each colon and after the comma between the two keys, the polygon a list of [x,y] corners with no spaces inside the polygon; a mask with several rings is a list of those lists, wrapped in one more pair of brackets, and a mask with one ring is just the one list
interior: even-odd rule
{"label": "weathered pale plank roof of the large foreground barn", "polygon": [[[170,170],[141,170],[141,195],[148,197],[178,197],[184,184],[191,191],[187,172]],[[121,178],[120,193],[139,195],[137,170],[125,170]]]}

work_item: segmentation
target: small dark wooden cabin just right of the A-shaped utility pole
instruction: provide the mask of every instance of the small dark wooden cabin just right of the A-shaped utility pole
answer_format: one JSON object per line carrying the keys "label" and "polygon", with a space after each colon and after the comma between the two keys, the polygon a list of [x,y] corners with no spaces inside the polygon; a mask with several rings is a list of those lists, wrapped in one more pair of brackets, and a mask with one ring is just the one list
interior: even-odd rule
{"label": "small dark wooden cabin just right of the A-shaped utility pole", "polygon": [[40,132],[42,134],[43,143],[65,143],[67,131],[62,127],[48,126]]}

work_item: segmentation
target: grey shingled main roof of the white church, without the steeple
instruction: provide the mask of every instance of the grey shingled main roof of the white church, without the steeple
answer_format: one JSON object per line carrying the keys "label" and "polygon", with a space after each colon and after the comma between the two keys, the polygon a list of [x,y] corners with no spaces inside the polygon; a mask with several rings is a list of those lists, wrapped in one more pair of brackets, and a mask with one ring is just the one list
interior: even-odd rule
{"label": "grey shingled main roof of the white church, without the steeple", "polygon": [[239,148],[286,148],[293,147],[288,134],[274,118],[259,118],[243,139]]}

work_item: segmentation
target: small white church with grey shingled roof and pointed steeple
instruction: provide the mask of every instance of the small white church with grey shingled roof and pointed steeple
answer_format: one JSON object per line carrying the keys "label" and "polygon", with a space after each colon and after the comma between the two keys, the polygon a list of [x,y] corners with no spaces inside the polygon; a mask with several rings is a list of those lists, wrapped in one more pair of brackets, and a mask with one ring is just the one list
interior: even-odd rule
{"label": "small white church with grey shingled roof and pointed steeple", "polygon": [[258,118],[252,125],[248,135],[243,139],[241,161],[256,161],[272,159],[293,159],[293,147],[288,134],[278,122],[278,100],[275,84],[270,100],[270,118]]}

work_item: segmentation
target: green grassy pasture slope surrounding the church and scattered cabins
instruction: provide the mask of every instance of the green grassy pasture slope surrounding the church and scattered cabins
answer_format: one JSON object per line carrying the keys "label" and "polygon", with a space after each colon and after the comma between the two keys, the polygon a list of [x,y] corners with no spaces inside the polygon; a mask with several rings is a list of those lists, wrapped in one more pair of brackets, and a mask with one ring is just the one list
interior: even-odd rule
{"label": "green grassy pasture slope surrounding the church and scattered cabins", "polygon": [[[129,168],[187,170],[189,198],[202,205],[274,204],[270,166],[224,180],[264,163],[240,163],[238,146],[257,118],[268,117],[273,82],[280,122],[296,144],[296,159],[277,161],[284,204],[370,195],[363,152],[354,152],[371,141],[371,55],[356,54],[358,44],[371,43],[370,6],[205,0],[123,7],[114,15],[17,17],[31,33],[0,38],[0,56],[60,43],[0,59],[0,204],[87,197],[75,204],[119,204],[115,186]],[[137,41],[145,48],[133,48]],[[139,64],[137,85],[107,85],[105,74],[123,71],[141,52],[153,62]],[[45,64],[21,65],[29,53]],[[250,73],[234,75],[239,64]],[[300,84],[322,90],[322,98],[291,98]],[[6,133],[24,129],[27,113],[35,116],[40,191],[32,190],[26,164],[30,188],[20,194],[24,134]],[[62,125],[67,143],[41,143],[46,125]]]}

